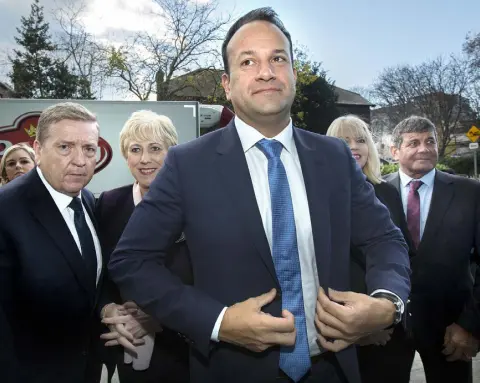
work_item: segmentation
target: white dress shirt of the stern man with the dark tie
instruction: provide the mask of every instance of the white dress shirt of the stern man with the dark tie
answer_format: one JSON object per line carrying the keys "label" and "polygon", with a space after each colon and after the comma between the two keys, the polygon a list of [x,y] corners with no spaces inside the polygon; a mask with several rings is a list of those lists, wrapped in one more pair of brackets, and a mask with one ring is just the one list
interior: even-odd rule
{"label": "white dress shirt of the stern man with the dark tie", "polygon": [[[80,238],[78,237],[77,229],[75,228],[75,221],[74,221],[74,211],[68,207],[70,205],[70,202],[72,202],[73,198],[60,193],[59,191],[55,190],[45,179],[44,175],[42,174],[42,170],[37,166],[37,172],[38,175],[40,176],[40,179],[42,180],[43,184],[47,188],[48,192],[53,198],[53,201],[55,202],[55,205],[57,205],[58,210],[62,214],[63,219],[65,220],[65,223],[68,226],[68,229],[70,230],[70,233],[72,233],[73,239],[75,240],[75,243],[77,244],[78,251],[80,251],[80,254],[82,253],[82,247],[80,245]],[[82,199],[81,192],[78,195],[80,197],[80,200]],[[92,233],[93,237],[93,243],[95,245],[95,252],[97,254],[97,280],[96,283],[98,284],[98,280],[100,278],[100,274],[102,273],[102,250],[100,247],[100,241],[98,240],[97,233],[95,232],[95,227],[93,226],[93,222],[90,219],[90,216],[88,215],[87,211],[85,210],[85,206],[83,206],[82,202],[82,207],[83,207],[83,212],[85,214],[85,219],[87,221],[88,228],[90,229],[90,232]]]}

